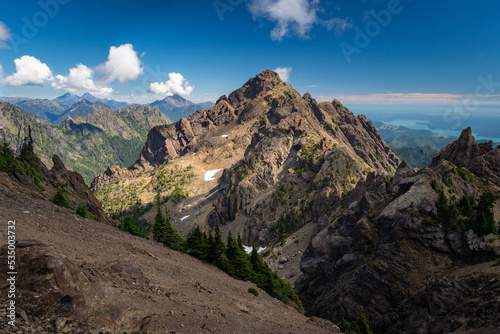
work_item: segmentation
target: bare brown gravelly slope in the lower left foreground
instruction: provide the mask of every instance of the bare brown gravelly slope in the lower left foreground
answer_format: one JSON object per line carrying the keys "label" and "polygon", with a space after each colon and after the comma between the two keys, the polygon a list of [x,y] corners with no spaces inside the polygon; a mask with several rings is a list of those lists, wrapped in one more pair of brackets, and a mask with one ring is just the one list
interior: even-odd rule
{"label": "bare brown gravelly slope in the lower left foreground", "polygon": [[[2,148],[2,168],[6,156]],[[17,271],[16,327],[2,321],[2,333],[340,333],[215,266],[55,206],[48,199],[65,189],[72,205],[86,204],[109,221],[82,177],[57,156],[51,170],[38,165],[44,189],[35,186],[33,171],[19,172],[38,164],[30,156],[35,160],[23,154],[15,171],[0,172],[0,219],[15,221]],[[4,263],[9,252],[0,247]],[[5,271],[0,278],[8,305]],[[7,319],[7,312],[0,315]]]}

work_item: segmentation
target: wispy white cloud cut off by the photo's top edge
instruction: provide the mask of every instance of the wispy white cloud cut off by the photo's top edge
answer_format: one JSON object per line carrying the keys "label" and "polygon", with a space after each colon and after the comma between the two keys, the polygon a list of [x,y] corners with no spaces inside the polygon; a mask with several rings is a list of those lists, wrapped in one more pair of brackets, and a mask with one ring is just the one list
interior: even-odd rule
{"label": "wispy white cloud cut off by the photo's top edge", "polygon": [[320,19],[317,15],[319,0],[250,0],[248,9],[254,19],[266,18],[276,23],[271,31],[273,40],[282,40],[292,34],[307,38],[315,24],[324,25],[329,30],[335,29],[336,33],[352,27],[347,19]]}

